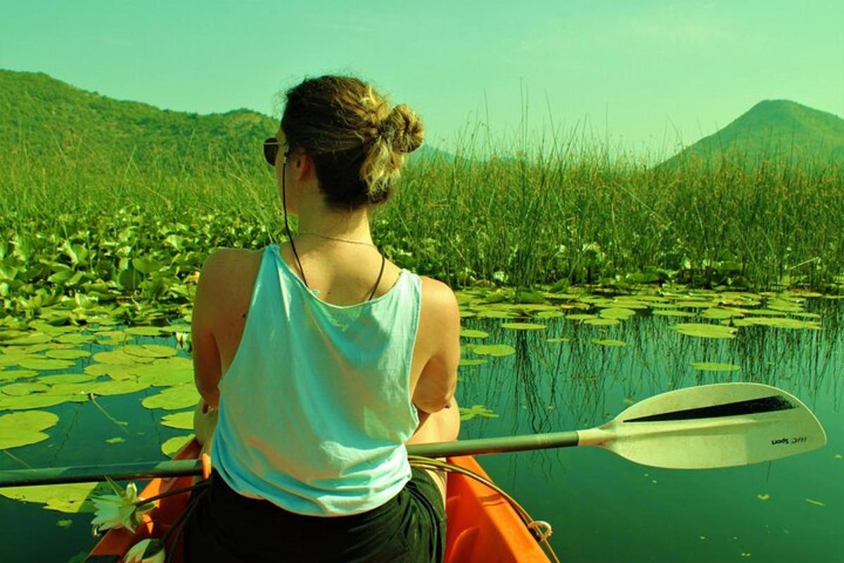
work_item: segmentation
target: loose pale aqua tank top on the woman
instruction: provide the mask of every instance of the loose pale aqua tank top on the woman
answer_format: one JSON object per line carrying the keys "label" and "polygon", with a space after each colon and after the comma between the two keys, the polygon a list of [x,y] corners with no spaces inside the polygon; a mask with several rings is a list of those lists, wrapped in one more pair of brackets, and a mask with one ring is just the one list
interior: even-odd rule
{"label": "loose pale aqua tank top on the woman", "polygon": [[397,495],[410,478],[404,442],[419,424],[409,392],[419,300],[419,277],[404,270],[372,300],[329,304],[278,246],[264,249],[219,383],[212,461],[228,485],[320,516]]}

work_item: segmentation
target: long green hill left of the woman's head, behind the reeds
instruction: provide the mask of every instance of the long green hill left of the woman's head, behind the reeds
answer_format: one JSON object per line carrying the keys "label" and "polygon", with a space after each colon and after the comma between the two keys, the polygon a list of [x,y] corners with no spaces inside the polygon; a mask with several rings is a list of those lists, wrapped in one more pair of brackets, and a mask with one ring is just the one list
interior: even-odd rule
{"label": "long green hill left of the woman's head, behind the reeds", "polygon": [[[44,73],[0,69],[0,151],[86,167],[262,165],[278,121],[239,109],[199,115],[114,100]],[[425,145],[415,159],[447,156]]]}

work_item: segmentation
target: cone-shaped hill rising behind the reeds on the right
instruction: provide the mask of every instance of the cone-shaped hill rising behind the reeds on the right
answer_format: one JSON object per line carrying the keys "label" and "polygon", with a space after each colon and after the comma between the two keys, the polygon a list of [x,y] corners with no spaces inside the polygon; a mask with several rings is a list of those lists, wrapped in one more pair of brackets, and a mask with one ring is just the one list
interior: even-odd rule
{"label": "cone-shaped hill rising behind the reeds on the right", "polygon": [[663,165],[688,160],[740,159],[844,164],[844,119],[789,100],[764,100],[723,127],[701,138]]}

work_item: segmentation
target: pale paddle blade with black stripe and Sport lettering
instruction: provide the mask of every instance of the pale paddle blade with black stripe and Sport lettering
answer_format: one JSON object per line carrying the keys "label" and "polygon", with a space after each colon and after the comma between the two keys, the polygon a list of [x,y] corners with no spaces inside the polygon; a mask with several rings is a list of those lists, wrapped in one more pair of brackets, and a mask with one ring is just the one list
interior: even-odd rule
{"label": "pale paddle blade with black stripe and Sport lettering", "polygon": [[718,383],[636,403],[597,430],[600,445],[661,468],[725,468],[809,452],[826,444],[812,411],[760,383]]}

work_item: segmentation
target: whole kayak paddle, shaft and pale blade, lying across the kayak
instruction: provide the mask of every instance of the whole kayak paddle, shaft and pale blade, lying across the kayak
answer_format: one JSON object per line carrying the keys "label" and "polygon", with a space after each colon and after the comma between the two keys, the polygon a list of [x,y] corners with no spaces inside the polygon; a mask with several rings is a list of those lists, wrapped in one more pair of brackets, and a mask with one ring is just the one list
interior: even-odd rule
{"label": "whole kayak paddle, shaft and pale blade, lying across the kayak", "polygon": [[[589,430],[408,446],[408,455],[446,457],[549,447],[599,446],[660,468],[723,468],[824,446],[824,429],[793,395],[760,383],[717,383],[665,392]],[[0,487],[197,475],[196,460],[0,471]]]}

